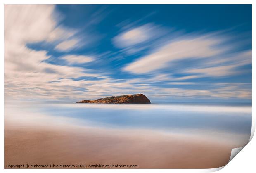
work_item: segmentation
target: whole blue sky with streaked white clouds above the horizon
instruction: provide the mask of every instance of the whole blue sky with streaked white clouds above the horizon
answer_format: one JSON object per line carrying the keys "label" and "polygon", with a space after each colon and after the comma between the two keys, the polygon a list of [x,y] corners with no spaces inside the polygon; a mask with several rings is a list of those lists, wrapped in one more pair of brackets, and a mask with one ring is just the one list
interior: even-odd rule
{"label": "whole blue sky with streaked white clouds above the horizon", "polygon": [[5,5],[5,99],[251,102],[251,5]]}

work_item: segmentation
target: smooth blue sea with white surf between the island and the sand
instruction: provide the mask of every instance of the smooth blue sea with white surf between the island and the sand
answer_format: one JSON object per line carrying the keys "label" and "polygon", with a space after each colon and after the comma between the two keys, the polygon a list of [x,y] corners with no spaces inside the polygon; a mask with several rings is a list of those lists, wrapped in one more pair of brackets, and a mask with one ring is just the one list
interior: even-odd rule
{"label": "smooth blue sea with white surf between the island and the sand", "polygon": [[[9,104],[5,105],[8,107]],[[17,109],[14,105],[9,105],[9,108]],[[251,134],[250,103],[67,104],[31,102],[19,105],[19,109],[57,119],[74,118],[78,120],[76,122],[80,126],[96,128],[193,133],[245,142],[249,140]]]}

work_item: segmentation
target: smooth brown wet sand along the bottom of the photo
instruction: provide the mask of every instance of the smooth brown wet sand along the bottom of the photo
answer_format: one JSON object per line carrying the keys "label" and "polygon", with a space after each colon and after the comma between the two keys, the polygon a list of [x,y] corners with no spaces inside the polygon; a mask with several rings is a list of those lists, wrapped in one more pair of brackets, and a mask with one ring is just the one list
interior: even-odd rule
{"label": "smooth brown wet sand along the bottom of the photo", "polygon": [[5,168],[16,164],[123,164],[137,168],[218,168],[230,146],[150,130],[109,130],[5,122]]}

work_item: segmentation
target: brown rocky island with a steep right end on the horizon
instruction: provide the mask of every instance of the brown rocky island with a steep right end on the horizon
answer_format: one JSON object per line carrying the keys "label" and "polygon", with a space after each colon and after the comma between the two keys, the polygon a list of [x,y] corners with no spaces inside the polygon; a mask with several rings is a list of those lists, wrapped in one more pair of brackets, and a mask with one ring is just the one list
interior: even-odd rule
{"label": "brown rocky island with a steep right end on the horizon", "polygon": [[147,104],[150,103],[150,100],[143,94],[133,94],[133,95],[120,95],[120,96],[111,96],[97,100],[81,100],[76,103],[137,103],[137,104]]}

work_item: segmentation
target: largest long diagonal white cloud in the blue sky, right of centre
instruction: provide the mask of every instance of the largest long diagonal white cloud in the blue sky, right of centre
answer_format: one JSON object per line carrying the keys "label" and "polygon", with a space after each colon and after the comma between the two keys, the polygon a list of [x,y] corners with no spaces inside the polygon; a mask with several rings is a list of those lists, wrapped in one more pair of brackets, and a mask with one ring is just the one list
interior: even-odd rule
{"label": "largest long diagonal white cloud in the blue sky, right of centre", "polygon": [[190,57],[205,58],[218,55],[222,49],[214,48],[220,40],[201,36],[173,41],[152,54],[142,57],[124,67],[130,73],[151,73],[167,67],[169,62]]}

